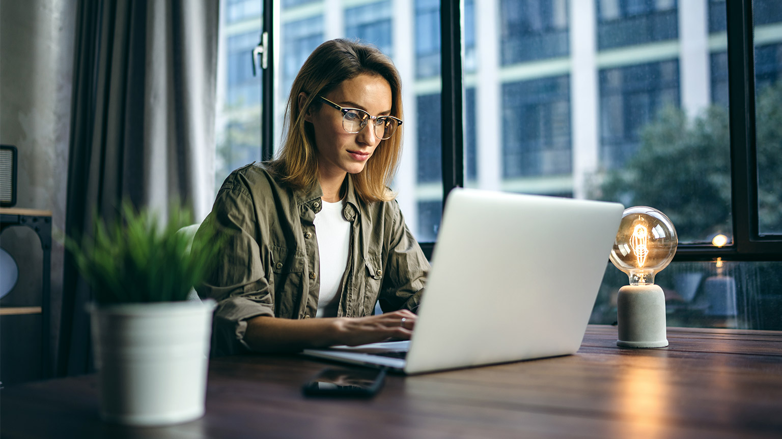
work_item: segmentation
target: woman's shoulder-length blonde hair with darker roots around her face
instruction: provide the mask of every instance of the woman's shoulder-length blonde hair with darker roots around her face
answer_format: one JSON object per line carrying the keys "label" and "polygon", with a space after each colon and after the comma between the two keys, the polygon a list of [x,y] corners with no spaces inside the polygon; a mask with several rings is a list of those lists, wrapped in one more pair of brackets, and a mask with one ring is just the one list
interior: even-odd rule
{"label": "woman's shoulder-length blonde hair with darker roots around her face", "polygon": [[[391,59],[378,48],[357,41],[336,39],[317,46],[293,80],[285,109],[285,143],[277,159],[269,163],[274,173],[292,187],[310,187],[317,182],[317,150],[312,123],[304,120],[310,105],[322,105],[317,95],[326,95],[344,80],[362,73],[375,74],[391,86],[391,116],[404,119],[402,80]],[[299,106],[299,95],[307,99]],[[316,108],[317,109],[317,108]],[[402,152],[401,127],[389,139],[380,141],[360,173],[353,174],[353,187],[364,202],[390,201],[389,190]]]}

